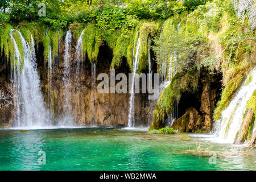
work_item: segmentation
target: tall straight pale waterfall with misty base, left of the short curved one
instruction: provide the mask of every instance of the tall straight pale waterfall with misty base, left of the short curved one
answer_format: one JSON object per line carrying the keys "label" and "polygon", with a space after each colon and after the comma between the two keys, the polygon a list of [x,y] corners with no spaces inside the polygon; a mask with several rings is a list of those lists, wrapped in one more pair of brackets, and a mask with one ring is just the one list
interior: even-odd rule
{"label": "tall straight pale waterfall with misty base, left of the short curved one", "polygon": [[65,55],[64,55],[64,112],[65,118],[61,121],[60,125],[62,126],[72,126],[73,125],[73,118],[71,117],[71,72],[70,72],[70,59],[71,59],[71,43],[72,43],[72,34],[71,31],[68,30],[66,37],[65,37]]}

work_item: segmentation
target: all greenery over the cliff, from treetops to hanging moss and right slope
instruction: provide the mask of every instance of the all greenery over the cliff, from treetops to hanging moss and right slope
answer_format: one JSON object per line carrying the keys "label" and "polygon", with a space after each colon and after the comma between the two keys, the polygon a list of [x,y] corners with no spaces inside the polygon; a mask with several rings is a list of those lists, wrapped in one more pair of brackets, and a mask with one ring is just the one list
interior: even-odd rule
{"label": "all greenery over the cliff, from treetops to hanging moss and right slope", "polygon": [[[46,4],[46,16],[38,15],[39,3]],[[244,6],[239,6],[243,4]],[[0,4],[1,55],[15,64],[11,29],[22,32],[36,48],[44,47],[48,61],[49,44],[57,56],[59,39],[72,32],[73,40],[83,34],[83,54],[97,63],[100,46],[113,51],[111,68],[125,57],[133,70],[134,48],[141,39],[138,72],[148,67],[148,38],[158,65],[169,64],[174,53],[177,74],[160,94],[150,129],[165,127],[165,119],[185,92],[195,93],[200,72],[222,73],[222,94],[214,110],[214,120],[228,106],[255,61],[255,4],[251,0],[133,0],[133,1],[4,1]],[[49,38],[48,38],[48,36]],[[19,39],[16,31],[15,40]],[[20,53],[22,46],[17,42]],[[23,56],[22,56],[23,57]],[[158,66],[159,71],[159,66]],[[167,73],[168,76],[168,73]],[[254,109],[254,96],[248,105]]]}

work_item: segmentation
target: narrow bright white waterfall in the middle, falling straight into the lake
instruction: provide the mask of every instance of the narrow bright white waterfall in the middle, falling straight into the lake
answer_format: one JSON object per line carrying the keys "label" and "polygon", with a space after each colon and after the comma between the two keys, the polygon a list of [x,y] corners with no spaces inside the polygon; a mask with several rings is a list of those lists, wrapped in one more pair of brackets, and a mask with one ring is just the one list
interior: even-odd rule
{"label": "narrow bright white waterfall in the middle, falling straight into the lake", "polygon": [[[138,38],[136,52],[133,48],[133,81],[131,84],[131,96],[130,96],[130,107],[129,107],[129,115],[128,115],[128,127],[134,127],[134,86],[135,86],[135,76],[136,72],[139,68],[139,49],[141,47],[141,39]],[[134,54],[135,53],[135,54]]]}

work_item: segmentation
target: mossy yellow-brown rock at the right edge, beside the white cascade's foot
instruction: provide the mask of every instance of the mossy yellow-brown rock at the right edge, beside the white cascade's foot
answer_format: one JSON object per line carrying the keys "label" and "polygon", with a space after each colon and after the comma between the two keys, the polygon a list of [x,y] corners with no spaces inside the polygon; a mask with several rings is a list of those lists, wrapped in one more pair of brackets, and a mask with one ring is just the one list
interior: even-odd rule
{"label": "mossy yellow-brown rock at the right edge, beside the white cascade's foot", "polygon": [[255,121],[255,115],[250,109],[246,111],[243,115],[242,125],[240,130],[238,130],[234,144],[243,144],[246,140],[249,140],[253,130],[253,125]]}

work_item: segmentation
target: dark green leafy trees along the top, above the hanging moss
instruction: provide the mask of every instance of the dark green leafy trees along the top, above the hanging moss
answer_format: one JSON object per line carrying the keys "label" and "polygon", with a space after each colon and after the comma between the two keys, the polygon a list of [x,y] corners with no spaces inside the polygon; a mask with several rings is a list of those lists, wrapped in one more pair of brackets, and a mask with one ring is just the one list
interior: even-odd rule
{"label": "dark green leafy trees along the top, above the hanging moss", "polygon": [[[86,23],[97,19],[112,18],[122,23],[123,17],[138,19],[167,19],[174,13],[192,11],[207,0],[6,0],[0,2],[0,21],[19,23],[38,20],[48,26],[67,27],[69,23]],[[45,16],[39,16],[42,5]]]}

